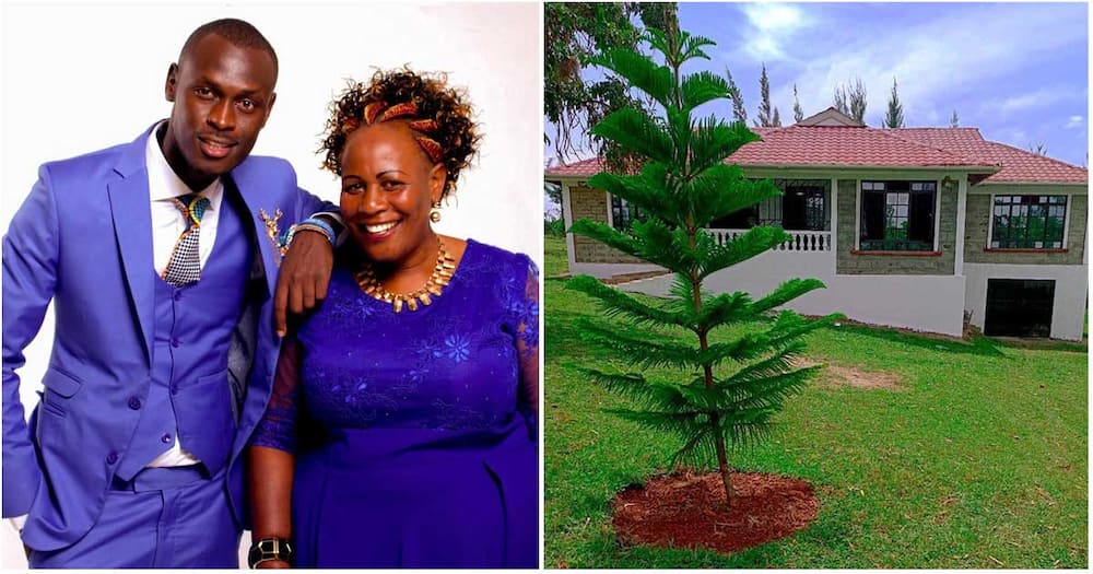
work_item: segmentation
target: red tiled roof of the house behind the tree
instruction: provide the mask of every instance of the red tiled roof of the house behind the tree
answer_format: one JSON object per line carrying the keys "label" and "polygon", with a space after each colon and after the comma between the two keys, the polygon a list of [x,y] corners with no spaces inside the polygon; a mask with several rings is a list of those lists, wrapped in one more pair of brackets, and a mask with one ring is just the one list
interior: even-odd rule
{"label": "red tiled roof of the house behind the tree", "polygon": [[[856,128],[789,126],[752,128],[763,141],[727,161],[742,166],[963,167],[990,183],[1086,183],[1089,172],[1058,160],[983,139],[976,128]],[[591,177],[598,157],[546,169],[548,176]],[[995,173],[997,172],[997,173]]]}

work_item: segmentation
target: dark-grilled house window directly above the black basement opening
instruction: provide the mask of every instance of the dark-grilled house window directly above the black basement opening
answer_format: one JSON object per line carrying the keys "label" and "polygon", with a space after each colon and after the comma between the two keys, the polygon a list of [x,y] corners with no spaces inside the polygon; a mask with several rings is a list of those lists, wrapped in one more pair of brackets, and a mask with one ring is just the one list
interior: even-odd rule
{"label": "dark-grilled house window directly above the black basement opening", "polygon": [[1067,196],[995,196],[990,247],[1061,249]]}

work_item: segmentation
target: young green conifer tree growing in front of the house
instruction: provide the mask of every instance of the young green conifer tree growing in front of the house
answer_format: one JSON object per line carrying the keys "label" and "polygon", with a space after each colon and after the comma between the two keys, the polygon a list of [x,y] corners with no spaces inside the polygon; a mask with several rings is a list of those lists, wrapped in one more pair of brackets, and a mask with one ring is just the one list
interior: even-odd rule
{"label": "young green conifer tree growing in front of the house", "polygon": [[[714,43],[679,30],[655,28],[647,30],[643,40],[662,56],[663,65],[622,48],[604,50],[589,63],[612,70],[658,104],[660,116],[624,108],[592,128],[595,136],[647,161],[638,173],[603,172],[588,184],[648,216],[625,231],[588,220],[576,222],[571,231],[659,265],[675,280],[669,297],[660,302],[635,297],[588,276],[574,278],[567,288],[598,300],[608,318],[634,327],[581,325],[589,343],[610,349],[639,370],[585,370],[595,383],[643,407],[612,412],[644,427],[678,434],[683,445],[674,464],[702,466],[716,458],[731,504],[728,454],[761,441],[784,401],[802,390],[819,367],[795,367],[794,358],[803,349],[801,337],[839,316],[806,320],[791,311],[774,311],[822,289],[815,279],[791,279],[759,300],[743,292],[703,291],[703,281],[712,273],[790,239],[780,227],[759,226],[718,244],[704,227],[780,192],[769,180],[745,179],[738,166],[724,163],[759,136],[742,121],[694,116],[698,106],[733,96],[734,89],[724,78],[680,72],[689,60],[709,59],[703,48]],[[739,323],[761,328],[728,342],[709,342],[714,329]],[[657,378],[648,373],[654,368],[679,375]]]}

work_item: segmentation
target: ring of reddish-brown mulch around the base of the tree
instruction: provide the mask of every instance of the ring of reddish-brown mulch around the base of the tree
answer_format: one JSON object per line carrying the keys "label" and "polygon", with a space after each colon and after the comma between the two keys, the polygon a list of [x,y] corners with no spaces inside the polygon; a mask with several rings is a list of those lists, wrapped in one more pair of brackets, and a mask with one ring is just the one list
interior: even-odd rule
{"label": "ring of reddish-brown mulch around the base of the tree", "polygon": [[761,472],[733,472],[736,499],[725,505],[720,475],[655,477],[612,502],[624,543],[736,552],[787,537],[816,517],[820,501],[808,482]]}

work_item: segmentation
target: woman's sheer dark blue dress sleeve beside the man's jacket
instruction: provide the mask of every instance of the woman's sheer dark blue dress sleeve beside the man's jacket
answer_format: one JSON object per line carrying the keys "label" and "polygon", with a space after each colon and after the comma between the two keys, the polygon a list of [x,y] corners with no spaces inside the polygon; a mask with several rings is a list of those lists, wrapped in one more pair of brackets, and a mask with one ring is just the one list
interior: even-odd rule
{"label": "woman's sheer dark blue dress sleeve beside the man's jacket", "polygon": [[255,427],[251,446],[268,446],[295,453],[299,442],[297,432],[299,403],[301,345],[294,337],[285,338],[281,356],[273,375],[273,393],[262,420]]}

